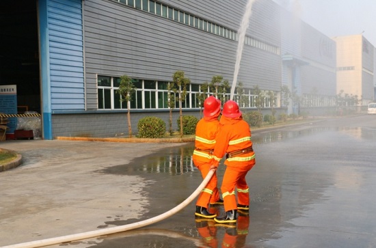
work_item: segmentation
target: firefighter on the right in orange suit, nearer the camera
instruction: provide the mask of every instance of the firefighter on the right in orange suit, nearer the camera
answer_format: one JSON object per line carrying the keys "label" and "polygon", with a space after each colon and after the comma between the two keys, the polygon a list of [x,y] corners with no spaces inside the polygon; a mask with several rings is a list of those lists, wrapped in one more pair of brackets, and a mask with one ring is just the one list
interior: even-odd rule
{"label": "firefighter on the right in orange suit, nearer the camera", "polygon": [[[237,223],[237,210],[250,209],[250,194],[245,176],[255,164],[255,155],[252,149],[250,126],[242,118],[237,102],[228,100],[224,104],[219,132],[213,152],[213,166],[215,169],[226,153],[227,166],[221,185],[224,199],[224,217],[215,217],[217,223]],[[238,195],[238,204],[235,196]]]}

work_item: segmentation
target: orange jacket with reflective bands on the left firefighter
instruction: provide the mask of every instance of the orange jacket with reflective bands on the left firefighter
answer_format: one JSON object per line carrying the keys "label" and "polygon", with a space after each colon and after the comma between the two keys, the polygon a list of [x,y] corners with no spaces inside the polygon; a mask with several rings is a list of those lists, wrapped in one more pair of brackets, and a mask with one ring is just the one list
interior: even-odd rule
{"label": "orange jacket with reflective bands on the left firefighter", "polygon": [[193,163],[211,163],[215,147],[215,137],[218,133],[219,121],[217,116],[204,117],[196,125],[195,150]]}

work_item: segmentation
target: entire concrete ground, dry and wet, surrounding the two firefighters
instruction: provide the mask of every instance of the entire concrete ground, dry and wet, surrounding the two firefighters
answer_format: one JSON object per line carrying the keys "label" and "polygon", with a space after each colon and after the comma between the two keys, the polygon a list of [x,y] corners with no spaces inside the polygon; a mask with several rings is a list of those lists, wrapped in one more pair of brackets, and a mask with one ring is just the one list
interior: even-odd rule
{"label": "entire concrete ground, dry and wet, surrounding the two firefighters", "polygon": [[[49,247],[376,247],[376,116],[255,130],[252,140],[250,212],[236,228],[197,221],[193,201],[144,228]],[[0,246],[149,219],[202,181],[191,162],[193,143],[36,140],[0,147],[24,159],[0,173]]]}

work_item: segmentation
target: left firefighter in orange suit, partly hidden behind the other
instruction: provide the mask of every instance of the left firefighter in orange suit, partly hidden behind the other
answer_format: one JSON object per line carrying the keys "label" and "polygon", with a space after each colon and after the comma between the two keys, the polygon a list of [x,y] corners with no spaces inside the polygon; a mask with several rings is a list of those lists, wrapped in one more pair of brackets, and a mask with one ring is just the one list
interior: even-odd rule
{"label": "left firefighter in orange suit, partly hidden behind the other", "polygon": [[[193,163],[200,169],[202,178],[205,178],[211,169],[212,153],[215,146],[215,136],[218,132],[218,117],[221,113],[221,101],[214,96],[204,100],[204,118],[196,126],[195,150]],[[214,218],[215,214],[209,212],[210,204],[223,204],[217,189],[217,174],[213,174],[206,187],[198,196],[196,203],[196,217]]]}

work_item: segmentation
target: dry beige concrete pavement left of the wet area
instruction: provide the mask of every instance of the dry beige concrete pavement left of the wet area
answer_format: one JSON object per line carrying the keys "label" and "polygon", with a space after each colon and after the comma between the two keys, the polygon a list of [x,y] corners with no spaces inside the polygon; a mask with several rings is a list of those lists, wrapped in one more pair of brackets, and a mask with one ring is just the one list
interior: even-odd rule
{"label": "dry beige concrete pavement left of the wet area", "polygon": [[1,143],[3,149],[20,152],[23,164],[0,173],[0,247],[96,230],[119,216],[138,219],[148,204],[140,194],[143,179],[96,171],[178,145],[62,140]]}

